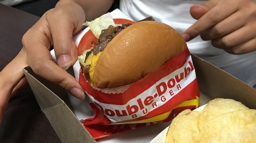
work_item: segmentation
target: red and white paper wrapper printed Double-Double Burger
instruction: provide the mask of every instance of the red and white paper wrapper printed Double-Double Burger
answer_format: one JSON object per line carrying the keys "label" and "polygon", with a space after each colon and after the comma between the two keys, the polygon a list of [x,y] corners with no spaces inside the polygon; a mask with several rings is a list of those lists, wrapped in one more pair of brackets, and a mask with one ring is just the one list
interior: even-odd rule
{"label": "red and white paper wrapper printed Double-Double Burger", "polygon": [[[74,68],[75,73],[77,70]],[[82,124],[95,139],[167,122],[181,111],[199,106],[196,73],[187,47],[159,69],[130,85],[96,89],[82,73],[76,75],[76,79],[87,93],[94,112],[84,118]]]}

